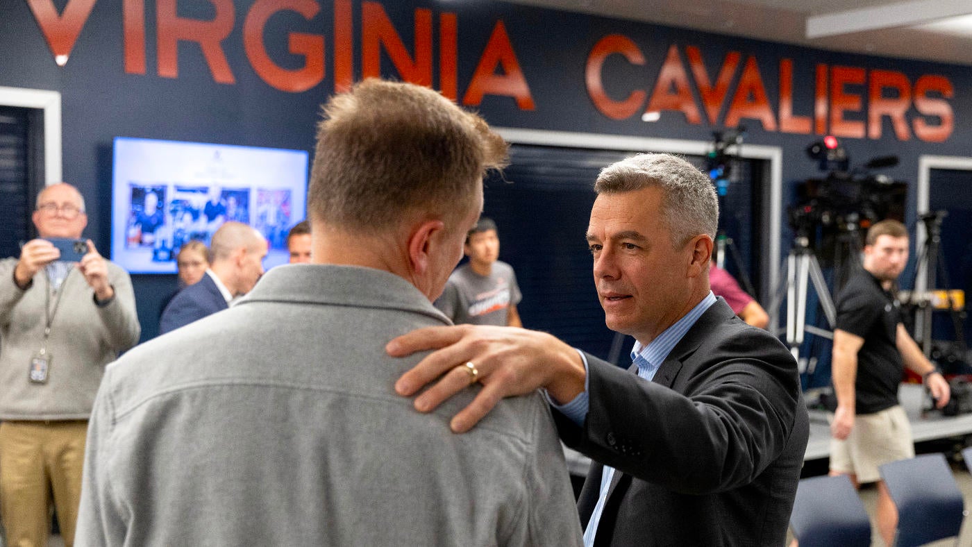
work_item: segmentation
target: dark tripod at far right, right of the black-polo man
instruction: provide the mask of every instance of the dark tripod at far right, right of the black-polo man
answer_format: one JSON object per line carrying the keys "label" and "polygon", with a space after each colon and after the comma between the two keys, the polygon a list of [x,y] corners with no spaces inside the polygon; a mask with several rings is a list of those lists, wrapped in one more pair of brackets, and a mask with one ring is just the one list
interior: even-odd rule
{"label": "dark tripod at far right, right of the black-polo man", "polygon": [[[916,316],[915,332],[920,333],[918,341],[921,345],[921,351],[924,353],[924,357],[931,356],[932,340],[931,340],[931,313],[932,305],[927,294],[935,290],[936,275],[941,276],[941,279],[945,282],[945,289],[950,289],[952,284],[949,282],[949,271],[945,266],[945,257],[942,256],[940,252],[942,244],[942,220],[948,215],[948,211],[934,211],[932,213],[925,213],[920,215],[919,219],[924,222],[924,230],[928,234],[924,240],[924,245],[921,247],[921,251],[918,256],[918,261],[915,264],[915,283],[912,287],[918,290],[918,276],[919,272],[925,272],[925,288],[924,294],[920,296],[917,302],[920,307],[920,313]],[[946,291],[946,298],[948,300],[949,314],[952,317],[952,325],[955,328],[955,342],[958,344],[959,349],[962,354],[965,354],[967,349],[965,345],[965,331],[962,325],[962,318],[955,311],[955,302],[952,300],[952,293]],[[913,292],[910,298],[914,303],[915,294]]]}

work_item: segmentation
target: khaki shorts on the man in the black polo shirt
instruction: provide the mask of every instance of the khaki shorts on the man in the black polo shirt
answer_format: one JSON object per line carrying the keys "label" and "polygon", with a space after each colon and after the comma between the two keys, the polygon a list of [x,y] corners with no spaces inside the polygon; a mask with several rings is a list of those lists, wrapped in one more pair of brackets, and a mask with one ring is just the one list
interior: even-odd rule
{"label": "khaki shorts on the man in the black polo shirt", "polygon": [[[833,422],[834,415],[827,418]],[[909,458],[915,458],[915,442],[900,405],[874,414],[858,414],[847,439],[830,438],[830,470],[856,475],[862,484],[880,481],[881,465]]]}

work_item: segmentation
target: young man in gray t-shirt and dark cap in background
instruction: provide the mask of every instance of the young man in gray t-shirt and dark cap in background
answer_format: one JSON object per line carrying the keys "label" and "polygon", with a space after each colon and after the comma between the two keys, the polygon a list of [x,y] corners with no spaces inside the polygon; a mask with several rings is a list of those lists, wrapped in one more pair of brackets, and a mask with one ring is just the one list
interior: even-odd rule
{"label": "young man in gray t-shirt and dark cap in background", "polygon": [[523,326],[516,311],[523,295],[513,268],[498,259],[496,222],[480,219],[464,249],[469,262],[452,272],[435,307],[455,324]]}

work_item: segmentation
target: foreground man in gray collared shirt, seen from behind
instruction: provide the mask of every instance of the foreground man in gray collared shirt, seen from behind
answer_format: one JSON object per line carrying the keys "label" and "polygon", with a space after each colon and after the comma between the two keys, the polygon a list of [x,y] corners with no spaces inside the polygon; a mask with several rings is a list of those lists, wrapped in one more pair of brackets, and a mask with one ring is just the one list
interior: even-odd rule
{"label": "foreground man in gray collared shirt, seen from behind", "polygon": [[468,435],[409,412],[415,359],[385,343],[449,325],[432,305],[505,156],[434,90],[368,80],[325,108],[308,191],[311,264],[108,367],[88,435],[83,545],[579,546],[538,393]]}

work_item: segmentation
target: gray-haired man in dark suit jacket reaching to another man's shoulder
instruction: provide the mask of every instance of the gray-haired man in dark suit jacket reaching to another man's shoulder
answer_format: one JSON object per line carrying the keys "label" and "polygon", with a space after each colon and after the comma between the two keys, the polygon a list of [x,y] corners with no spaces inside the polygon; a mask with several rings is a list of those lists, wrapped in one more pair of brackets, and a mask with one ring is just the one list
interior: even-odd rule
{"label": "gray-haired man in dark suit jacket reaching to another man's shoulder", "polygon": [[[396,384],[429,412],[483,384],[468,430],[503,396],[542,388],[561,438],[595,463],[578,509],[593,545],[781,545],[809,434],[795,360],[712,294],[718,204],[686,161],[639,154],[601,172],[587,242],[605,322],[637,340],[629,371],[524,329],[461,325],[392,340],[442,348]],[[634,374],[633,374],[634,373]],[[436,380],[438,379],[438,380]]]}

